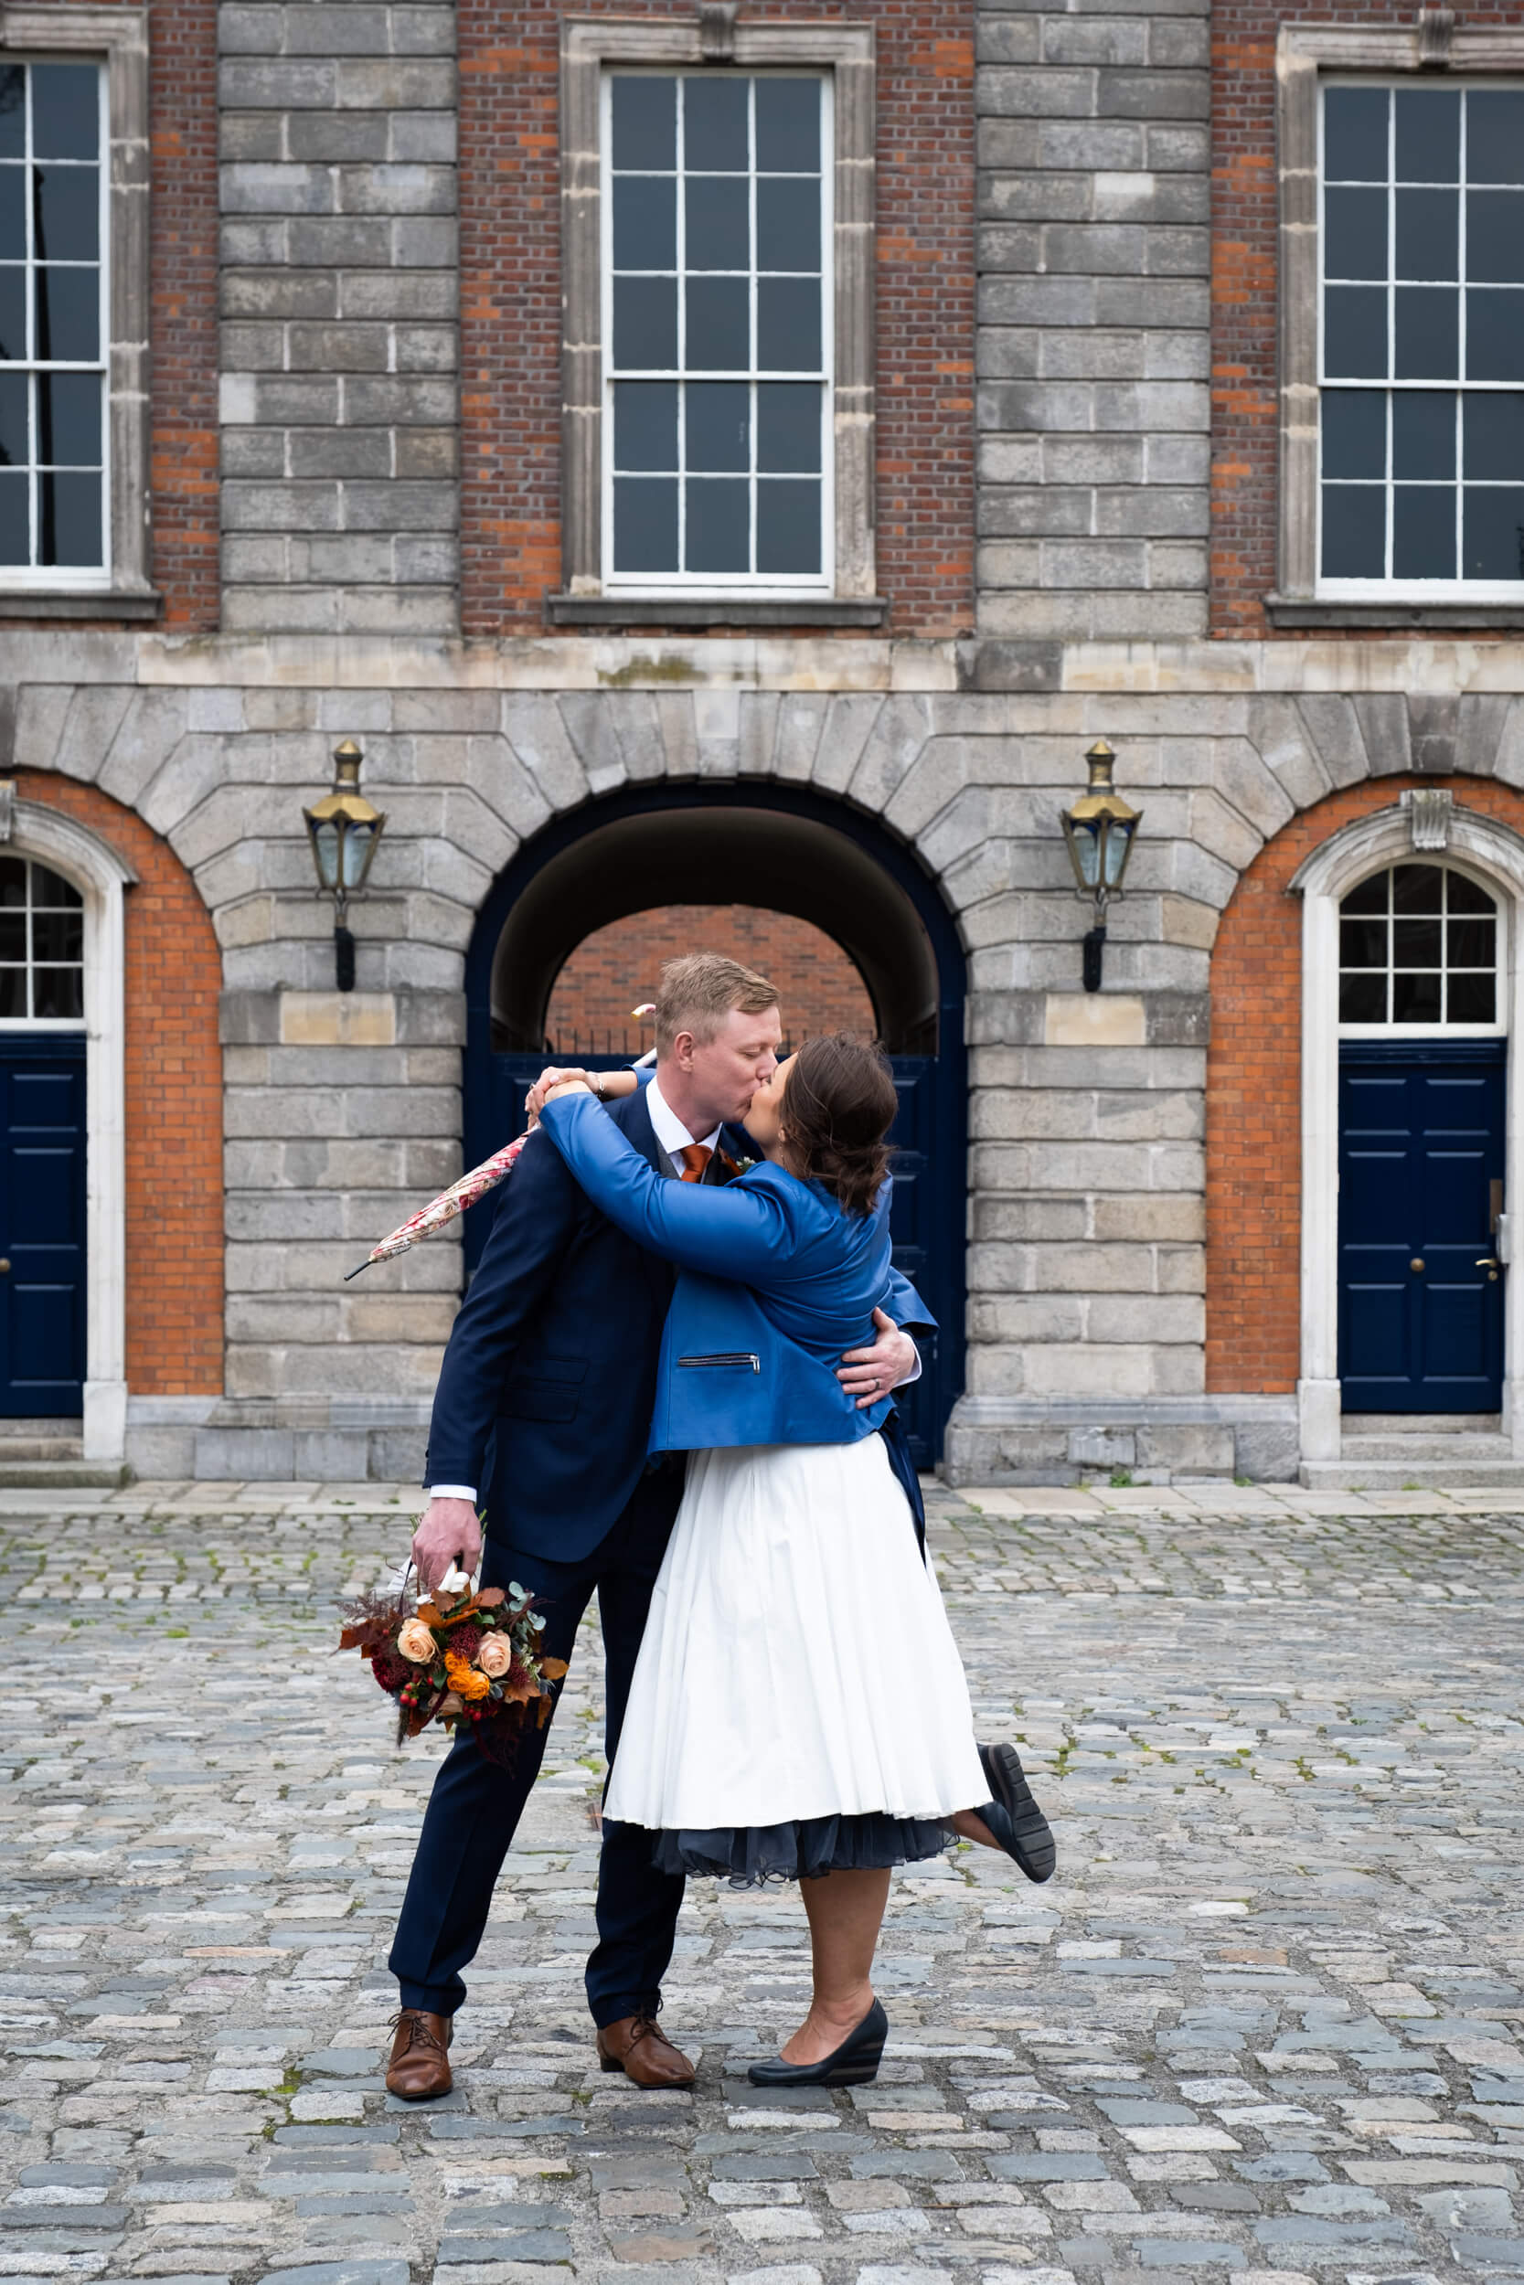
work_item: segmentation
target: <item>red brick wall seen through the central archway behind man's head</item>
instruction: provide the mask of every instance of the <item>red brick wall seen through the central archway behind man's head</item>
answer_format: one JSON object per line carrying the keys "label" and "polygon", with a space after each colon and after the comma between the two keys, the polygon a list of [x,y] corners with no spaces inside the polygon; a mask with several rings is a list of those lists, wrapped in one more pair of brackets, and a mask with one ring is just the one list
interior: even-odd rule
{"label": "red brick wall seen through the central archway behind man's head", "polygon": [[729,953],[777,985],[784,1028],[793,1040],[811,1031],[875,1031],[873,1001],[839,944],[809,921],[754,905],[663,905],[610,921],[578,944],[555,978],[546,1031],[562,1049],[580,1035],[585,1053],[601,1051],[612,1033],[612,1053],[628,1037],[631,1053],[651,1047],[649,1024],[633,1024],[631,1008],[656,996],[663,960],[697,948]]}

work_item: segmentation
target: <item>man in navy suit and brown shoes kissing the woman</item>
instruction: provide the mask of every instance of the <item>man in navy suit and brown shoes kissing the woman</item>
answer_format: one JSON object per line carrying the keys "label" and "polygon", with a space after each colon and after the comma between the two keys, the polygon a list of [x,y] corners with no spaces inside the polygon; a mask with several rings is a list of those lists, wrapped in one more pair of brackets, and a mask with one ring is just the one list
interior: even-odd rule
{"label": "man in navy suit and brown shoes kissing the woman", "polygon": [[[777,1069],[779,1040],[777,992],[763,976],[717,953],[672,960],[656,1001],[656,1079],[608,1115],[658,1174],[724,1181],[745,1152],[731,1122]],[[555,1149],[530,1145],[500,1190],[450,1332],[430,1424],[430,1506],[414,1533],[425,1590],[450,1563],[482,1561],[484,1586],[519,1581],[535,1595],[555,1659],[571,1657],[596,1590],[610,1764],[683,1494],[681,1453],[647,1462],[672,1282],[665,1261],[589,1204]],[[914,1341],[882,1312],[875,1323],[875,1346],[850,1350],[839,1373],[868,1401],[921,1371]],[[386,2086],[409,2102],[450,2091],[462,1970],[482,1940],[544,1743],[544,1730],[526,1732],[512,1766],[498,1769],[462,1737],[434,1780],[391,1947],[402,2009]],[[637,2086],[692,2084],[692,2063],[656,2025],[681,1901],[681,1878],[651,1865],[649,1835],[605,1823],[587,2004],[603,2068]]]}

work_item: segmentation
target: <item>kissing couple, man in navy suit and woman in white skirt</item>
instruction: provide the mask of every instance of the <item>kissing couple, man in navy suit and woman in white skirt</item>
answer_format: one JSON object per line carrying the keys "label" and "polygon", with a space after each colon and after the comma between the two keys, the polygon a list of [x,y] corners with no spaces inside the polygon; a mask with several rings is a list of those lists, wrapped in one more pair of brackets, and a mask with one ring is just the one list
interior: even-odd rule
{"label": "kissing couple, man in navy suit and woman in white skirt", "polygon": [[[889,2034],[871,1972],[891,1865],[957,1833],[1053,1871],[1014,1746],[973,1739],[893,1408],[932,1330],[889,1261],[893,1076],[843,1033],[781,1063],[779,1042],[772,985],[695,953],[663,969],[647,1085],[539,1079],[446,1348],[414,1533],[427,1593],[452,1563],[519,1581],[555,1659],[599,1595],[587,2004],[603,2070],[637,2086],[695,2075],[658,2027],[688,1874],[800,1881],[813,1997],[752,2082],[850,2086]],[[393,2095],[450,2091],[462,1970],[544,1737],[507,1769],[462,1737],[439,1766],[391,1949]]]}

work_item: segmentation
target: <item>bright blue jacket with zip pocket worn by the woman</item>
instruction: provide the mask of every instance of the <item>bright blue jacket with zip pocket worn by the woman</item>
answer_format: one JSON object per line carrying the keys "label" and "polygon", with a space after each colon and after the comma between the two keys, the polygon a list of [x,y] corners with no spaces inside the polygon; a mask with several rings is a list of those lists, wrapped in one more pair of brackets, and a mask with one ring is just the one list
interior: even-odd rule
{"label": "bright blue jacket with zip pocket worn by the woman", "polygon": [[813,1181],[756,1165],[724,1188],[663,1181],[587,1095],[542,1127],[608,1220],[679,1268],[663,1332],[651,1451],[855,1444],[893,1398],[857,1410],[836,1380],[873,1341],[873,1312],[935,1318],[889,1266],[889,1184],[868,1216]]}

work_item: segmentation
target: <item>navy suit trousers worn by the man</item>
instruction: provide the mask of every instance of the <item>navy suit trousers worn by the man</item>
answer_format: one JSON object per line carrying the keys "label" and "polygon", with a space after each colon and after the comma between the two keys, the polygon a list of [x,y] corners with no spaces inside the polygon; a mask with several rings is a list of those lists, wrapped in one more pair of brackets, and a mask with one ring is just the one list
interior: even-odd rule
{"label": "navy suit trousers worn by the man", "polygon": [[[635,1485],[615,1529],[576,1563],[551,1563],[487,1538],[484,1586],[519,1581],[546,1620],[544,1647],[569,1659],[592,1595],[599,1597],[605,1675],[605,1755],[612,1769],[631,1695],[640,1636],[656,1572],[683,1494],[683,1460],[669,1460]],[[544,1759],[546,1730],[530,1730],[510,1769],[498,1769],[473,1739],[459,1739],[439,1766],[407,1883],[391,1972],[402,2006],[455,2015],[466,1999],[462,1970],[475,1958],[523,1803]],[[592,1835],[589,1835],[592,1839]],[[599,1858],[599,1942],[587,1961],[587,2006],[599,2027],[624,2015],[653,2015],[672,1958],[683,1883],[651,1865],[651,1835],[605,1823]]]}

